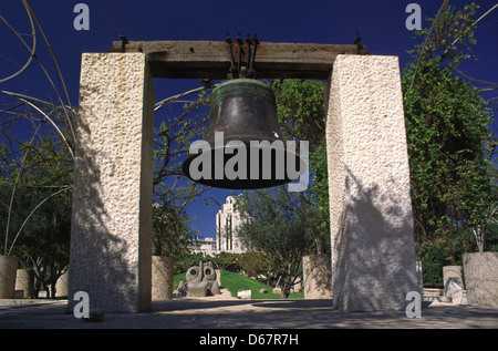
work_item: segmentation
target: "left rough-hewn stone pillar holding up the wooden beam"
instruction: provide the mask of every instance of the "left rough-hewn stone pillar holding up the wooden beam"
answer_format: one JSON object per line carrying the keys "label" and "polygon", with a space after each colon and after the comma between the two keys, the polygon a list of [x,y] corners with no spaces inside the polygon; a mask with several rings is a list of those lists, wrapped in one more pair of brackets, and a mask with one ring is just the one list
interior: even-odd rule
{"label": "left rough-hewn stone pillar holding up the wooden beam", "polygon": [[91,310],[151,309],[153,80],[143,53],[84,53],[70,293]]}

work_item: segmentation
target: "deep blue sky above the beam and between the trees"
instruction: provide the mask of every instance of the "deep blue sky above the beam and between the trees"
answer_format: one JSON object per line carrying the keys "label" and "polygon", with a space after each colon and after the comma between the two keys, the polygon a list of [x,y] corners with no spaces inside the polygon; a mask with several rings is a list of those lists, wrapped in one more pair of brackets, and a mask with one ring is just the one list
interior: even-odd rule
{"label": "deep blue sky above the beam and between the trees", "polygon": [[[372,54],[400,56],[403,68],[411,59],[406,50],[413,48],[413,32],[405,28],[408,3],[421,6],[423,18],[435,17],[443,0],[44,0],[29,1],[59,61],[68,85],[72,105],[77,105],[80,61],[83,52],[106,52],[113,41],[125,33],[131,41],[138,40],[225,40],[227,31],[235,39],[257,33],[260,41],[350,44],[356,30],[362,44]],[[450,0],[457,9],[468,1]],[[90,30],[76,31],[74,6],[90,8]],[[497,1],[476,1],[480,6],[476,18]],[[0,14],[31,43],[31,29],[21,0],[1,0]],[[423,27],[426,22],[423,21]],[[474,78],[498,82],[498,9],[487,16],[476,30],[476,52],[480,61],[463,66]],[[15,72],[28,59],[28,51],[12,32],[0,22],[0,79]],[[39,40],[37,55],[51,75],[55,71],[44,43]],[[465,69],[465,70],[464,70]],[[156,80],[156,100],[198,87],[197,80]],[[479,84],[477,84],[479,85]],[[60,85],[58,85],[60,87]],[[28,70],[13,80],[0,83],[0,90],[13,91],[44,100],[55,100],[53,89],[40,66],[32,62]],[[497,96],[494,91],[486,97]],[[496,105],[495,105],[496,106]],[[2,106],[3,107],[3,106]],[[175,113],[168,107],[164,113]],[[159,121],[160,114],[156,116]],[[211,190],[222,203],[228,190]],[[201,202],[190,206],[197,217],[194,228],[200,236],[215,233],[216,205]]]}

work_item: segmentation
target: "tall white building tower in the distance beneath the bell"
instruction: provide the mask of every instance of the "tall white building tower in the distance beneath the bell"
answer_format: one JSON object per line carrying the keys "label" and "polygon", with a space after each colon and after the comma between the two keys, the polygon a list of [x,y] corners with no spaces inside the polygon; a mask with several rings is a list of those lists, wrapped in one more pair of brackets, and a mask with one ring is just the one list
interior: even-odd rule
{"label": "tall white building tower in the distance beneath the bell", "polygon": [[242,219],[240,213],[236,209],[236,196],[228,196],[227,202],[216,215],[216,250],[218,252],[246,252],[237,236],[237,227]]}

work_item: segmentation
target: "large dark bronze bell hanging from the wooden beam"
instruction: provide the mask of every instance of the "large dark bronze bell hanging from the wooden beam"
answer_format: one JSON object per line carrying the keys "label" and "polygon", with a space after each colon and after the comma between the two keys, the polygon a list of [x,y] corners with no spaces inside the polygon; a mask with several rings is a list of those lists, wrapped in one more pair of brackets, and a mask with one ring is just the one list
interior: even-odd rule
{"label": "large dark bronze bell hanging from the wooden beam", "polygon": [[297,179],[305,167],[295,147],[282,140],[272,90],[252,79],[234,79],[212,91],[208,127],[198,145],[190,147],[183,173],[212,187],[272,187]]}

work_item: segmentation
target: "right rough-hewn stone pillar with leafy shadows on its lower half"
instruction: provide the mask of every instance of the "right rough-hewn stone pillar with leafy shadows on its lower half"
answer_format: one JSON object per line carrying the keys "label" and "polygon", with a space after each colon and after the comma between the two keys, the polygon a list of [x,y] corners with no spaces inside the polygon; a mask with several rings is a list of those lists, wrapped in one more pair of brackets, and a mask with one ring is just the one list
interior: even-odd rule
{"label": "right rough-hewn stone pillar with leafy shadows on its lower half", "polygon": [[397,58],[339,55],[329,86],[333,303],[401,310],[418,287]]}

